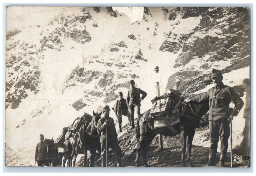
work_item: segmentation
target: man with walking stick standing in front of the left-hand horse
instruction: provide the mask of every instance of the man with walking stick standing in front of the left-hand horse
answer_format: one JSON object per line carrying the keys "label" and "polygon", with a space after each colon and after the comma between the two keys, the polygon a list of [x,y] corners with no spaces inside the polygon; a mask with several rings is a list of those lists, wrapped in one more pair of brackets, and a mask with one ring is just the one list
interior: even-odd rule
{"label": "man with walking stick standing in front of the left-hand horse", "polygon": [[117,167],[121,166],[121,153],[122,150],[118,144],[116,128],[114,119],[109,117],[109,106],[106,105],[103,108],[103,117],[100,118],[97,125],[97,131],[100,135],[101,143],[101,166],[106,167],[106,136],[107,136],[107,147],[110,147],[113,152],[116,153]]}

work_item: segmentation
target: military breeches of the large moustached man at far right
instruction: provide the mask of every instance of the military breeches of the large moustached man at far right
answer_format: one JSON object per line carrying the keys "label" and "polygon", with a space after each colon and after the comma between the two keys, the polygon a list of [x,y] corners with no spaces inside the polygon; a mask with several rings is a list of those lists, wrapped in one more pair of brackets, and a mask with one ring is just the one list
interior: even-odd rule
{"label": "military breeches of the large moustached man at far right", "polygon": [[218,121],[209,121],[210,142],[211,145],[217,144],[219,138],[223,147],[228,147],[228,138],[230,136],[230,127],[227,119]]}

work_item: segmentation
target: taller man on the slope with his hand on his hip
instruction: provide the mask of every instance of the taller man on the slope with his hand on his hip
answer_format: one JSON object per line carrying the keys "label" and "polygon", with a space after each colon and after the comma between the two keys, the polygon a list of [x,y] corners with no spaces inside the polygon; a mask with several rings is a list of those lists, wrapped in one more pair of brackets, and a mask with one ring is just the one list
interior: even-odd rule
{"label": "taller man on the slope with his hand on his hip", "polygon": [[[134,80],[129,81],[129,83],[130,89],[126,96],[126,103],[131,112],[129,121],[130,124],[132,125],[132,128],[134,128],[134,110],[136,111],[138,117],[140,115],[140,102],[147,96],[147,93],[141,90],[140,88],[136,88]],[[141,98],[140,94],[142,94]]]}

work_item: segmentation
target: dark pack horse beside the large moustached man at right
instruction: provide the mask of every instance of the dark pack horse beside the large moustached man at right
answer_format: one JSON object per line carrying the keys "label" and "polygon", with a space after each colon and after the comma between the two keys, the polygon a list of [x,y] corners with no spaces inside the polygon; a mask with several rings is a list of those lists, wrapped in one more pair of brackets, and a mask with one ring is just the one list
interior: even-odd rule
{"label": "dark pack horse beside the large moustached man at right", "polygon": [[[185,166],[185,152],[186,152],[186,142],[188,138],[188,153],[187,153],[187,161],[188,164],[192,166],[191,162],[191,148],[192,141],[195,135],[196,128],[199,126],[200,118],[209,110],[209,105],[207,102],[203,103],[194,103],[189,102],[188,104],[183,104],[182,108],[186,108],[184,111],[184,116],[180,116],[180,123],[173,125],[174,129],[181,134],[182,138],[182,154],[181,154],[181,166]],[[137,139],[139,140],[136,151],[136,160],[135,166],[138,166],[139,162],[139,152],[142,149],[142,162],[146,167],[147,164],[147,150],[149,144],[152,142],[154,137],[157,134],[161,134],[163,136],[175,136],[177,134],[173,134],[168,127],[164,128],[154,128],[154,120],[144,121],[144,116],[149,116],[150,109],[141,114],[137,119]]]}

